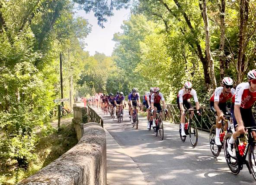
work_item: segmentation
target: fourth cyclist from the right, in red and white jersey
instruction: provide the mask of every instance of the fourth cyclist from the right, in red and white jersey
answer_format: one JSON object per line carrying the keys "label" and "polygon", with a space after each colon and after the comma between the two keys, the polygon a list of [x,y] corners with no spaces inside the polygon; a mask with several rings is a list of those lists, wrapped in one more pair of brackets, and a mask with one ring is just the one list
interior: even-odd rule
{"label": "fourth cyclist from the right, in red and white jersey", "polygon": [[[156,116],[157,116],[157,111],[162,111],[162,107],[160,104],[160,101],[163,102],[163,108],[167,112],[166,105],[165,105],[165,100],[163,97],[163,94],[160,93],[160,88],[159,87],[154,87],[153,89],[154,94],[151,95],[151,112],[153,114],[153,128],[156,127]],[[160,112],[160,116],[162,116],[162,112]]]}

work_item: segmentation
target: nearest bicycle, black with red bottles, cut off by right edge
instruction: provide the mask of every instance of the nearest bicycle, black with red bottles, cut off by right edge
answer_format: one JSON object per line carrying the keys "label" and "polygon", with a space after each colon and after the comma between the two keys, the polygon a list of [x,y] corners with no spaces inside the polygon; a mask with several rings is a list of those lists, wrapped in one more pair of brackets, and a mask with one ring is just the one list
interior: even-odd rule
{"label": "nearest bicycle, black with red bottles, cut off by right edge", "polygon": [[[253,175],[256,180],[256,141],[253,139],[252,131],[256,130],[256,126],[246,127],[247,133],[241,134],[234,143],[236,151],[236,157],[230,156],[228,153],[227,141],[232,137],[231,133],[225,136],[224,142],[224,155],[227,161],[227,166],[234,175],[237,175],[240,170],[243,169],[243,164],[246,164],[249,172]],[[241,142],[243,140],[243,142]],[[248,160],[246,160],[247,154],[249,154]]]}

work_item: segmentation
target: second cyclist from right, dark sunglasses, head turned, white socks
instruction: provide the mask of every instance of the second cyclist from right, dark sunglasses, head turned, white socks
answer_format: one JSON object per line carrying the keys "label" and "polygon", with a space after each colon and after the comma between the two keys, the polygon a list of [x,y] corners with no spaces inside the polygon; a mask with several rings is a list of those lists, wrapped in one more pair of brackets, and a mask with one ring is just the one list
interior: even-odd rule
{"label": "second cyclist from right, dark sunglasses, head turned, white socks", "polygon": [[[234,95],[233,80],[230,77],[224,77],[222,80],[222,85],[215,89],[214,93],[210,98],[211,108],[217,112],[218,118],[216,119],[216,136],[215,144],[221,146],[220,133],[221,133],[221,123],[220,120],[224,120],[224,114],[230,114],[227,108],[227,100]],[[227,125],[225,126],[227,128]]]}

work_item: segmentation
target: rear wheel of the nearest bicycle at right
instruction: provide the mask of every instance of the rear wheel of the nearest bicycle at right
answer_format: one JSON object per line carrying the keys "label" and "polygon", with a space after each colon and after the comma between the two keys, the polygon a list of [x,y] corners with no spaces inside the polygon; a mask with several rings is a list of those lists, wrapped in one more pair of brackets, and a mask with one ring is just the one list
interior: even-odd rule
{"label": "rear wheel of the nearest bicycle at right", "polygon": [[[230,156],[227,148],[227,140],[230,139],[231,137],[232,137],[232,134],[227,133],[224,138],[224,155],[227,162],[227,166],[229,167],[230,171],[233,174],[237,175],[240,172],[238,161],[237,159],[234,159],[233,157]],[[234,147],[236,147],[236,144],[234,144]]]}

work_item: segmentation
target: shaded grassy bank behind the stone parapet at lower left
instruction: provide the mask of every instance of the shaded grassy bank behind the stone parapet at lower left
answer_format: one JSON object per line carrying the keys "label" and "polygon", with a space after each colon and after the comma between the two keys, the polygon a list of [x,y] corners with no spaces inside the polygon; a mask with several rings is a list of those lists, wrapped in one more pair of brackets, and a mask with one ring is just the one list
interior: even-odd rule
{"label": "shaded grassy bank behind the stone parapet at lower left", "polygon": [[14,185],[33,175],[38,170],[58,159],[62,154],[77,144],[73,124],[61,125],[61,129],[49,128],[38,134],[38,143],[34,153],[36,158],[29,164],[27,170],[17,167],[16,160],[9,160],[6,164],[0,163],[0,185]]}

